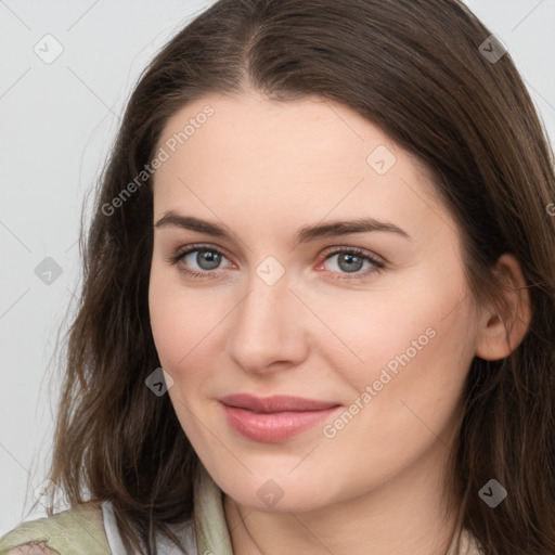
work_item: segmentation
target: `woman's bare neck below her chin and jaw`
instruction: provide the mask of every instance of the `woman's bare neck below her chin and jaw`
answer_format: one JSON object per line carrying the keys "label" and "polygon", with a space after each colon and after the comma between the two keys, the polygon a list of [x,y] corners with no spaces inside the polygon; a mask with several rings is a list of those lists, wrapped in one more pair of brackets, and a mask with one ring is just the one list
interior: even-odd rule
{"label": "woman's bare neck below her chin and jaw", "polygon": [[[444,555],[456,529],[460,503],[444,500],[438,442],[417,464],[362,494],[308,512],[264,512],[224,495],[234,555]],[[434,464],[434,463],[431,463]],[[444,468],[444,466],[443,466]]]}

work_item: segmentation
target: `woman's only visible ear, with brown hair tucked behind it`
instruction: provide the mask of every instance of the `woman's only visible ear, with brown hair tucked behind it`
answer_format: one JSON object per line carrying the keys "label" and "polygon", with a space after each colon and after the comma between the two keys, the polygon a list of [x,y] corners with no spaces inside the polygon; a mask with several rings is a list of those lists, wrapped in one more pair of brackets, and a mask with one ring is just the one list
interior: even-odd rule
{"label": "woman's only visible ear, with brown hair tucked behind it", "polygon": [[513,255],[503,255],[495,263],[494,271],[505,283],[500,295],[507,312],[500,315],[494,307],[483,307],[478,324],[476,356],[485,360],[508,357],[520,345],[532,318],[530,294],[517,259]]}

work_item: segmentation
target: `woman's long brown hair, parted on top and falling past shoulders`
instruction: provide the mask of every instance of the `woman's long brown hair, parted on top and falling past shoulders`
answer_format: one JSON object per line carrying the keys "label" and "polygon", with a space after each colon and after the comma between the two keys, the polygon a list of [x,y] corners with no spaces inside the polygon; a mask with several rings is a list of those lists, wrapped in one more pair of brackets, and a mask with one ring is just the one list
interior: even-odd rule
{"label": "woman's long brown hair, parted on top and falling past shoulders", "polygon": [[[149,554],[154,531],[191,515],[197,456],[169,396],[145,387],[160,365],[147,306],[152,179],[117,208],[113,199],[153,159],[178,109],[253,88],[341,103],[415,155],[459,223],[478,300],[499,297],[491,270],[502,254],[519,261],[530,328],[509,357],[472,363],[452,486],[487,554],[555,553],[554,157],[511,55],[492,63],[480,52],[490,35],[459,0],[220,0],[156,55],[81,235],[82,296],[50,473],[72,505],[83,488],[111,500],[126,546],[140,539]],[[495,509],[478,495],[491,478],[508,491]]]}

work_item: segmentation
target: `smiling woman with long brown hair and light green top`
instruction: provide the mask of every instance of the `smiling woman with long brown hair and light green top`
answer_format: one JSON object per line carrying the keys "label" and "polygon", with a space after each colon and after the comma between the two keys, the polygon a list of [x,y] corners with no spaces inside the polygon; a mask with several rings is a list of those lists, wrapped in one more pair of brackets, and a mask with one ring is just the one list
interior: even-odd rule
{"label": "smiling woman with long brown hair and light green top", "polygon": [[460,1],[215,3],[103,177],[49,476],[73,508],[1,548],[554,553],[554,198]]}

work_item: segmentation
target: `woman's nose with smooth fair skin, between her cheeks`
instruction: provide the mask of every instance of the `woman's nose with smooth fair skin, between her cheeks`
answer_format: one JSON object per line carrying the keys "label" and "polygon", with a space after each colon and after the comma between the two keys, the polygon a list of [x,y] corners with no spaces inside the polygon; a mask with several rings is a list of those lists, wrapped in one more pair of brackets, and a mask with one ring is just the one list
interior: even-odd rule
{"label": "woman's nose with smooth fair skin, between her cheeks", "polygon": [[269,285],[256,273],[233,311],[228,354],[245,372],[267,374],[295,366],[308,353],[307,310],[284,275]]}

